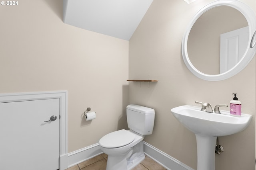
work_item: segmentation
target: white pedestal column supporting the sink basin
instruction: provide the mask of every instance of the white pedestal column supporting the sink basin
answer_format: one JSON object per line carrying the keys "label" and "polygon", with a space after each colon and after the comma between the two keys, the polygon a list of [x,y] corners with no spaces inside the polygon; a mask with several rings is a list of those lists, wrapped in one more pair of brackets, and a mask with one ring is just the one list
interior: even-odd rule
{"label": "white pedestal column supporting the sink basin", "polygon": [[196,134],[197,170],[215,170],[216,138]]}

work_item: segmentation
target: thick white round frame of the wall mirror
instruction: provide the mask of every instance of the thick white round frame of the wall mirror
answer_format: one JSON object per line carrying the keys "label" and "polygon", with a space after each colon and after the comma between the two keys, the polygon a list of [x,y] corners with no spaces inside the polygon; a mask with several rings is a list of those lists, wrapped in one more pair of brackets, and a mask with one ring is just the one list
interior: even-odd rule
{"label": "thick white round frame of the wall mirror", "polygon": [[[210,75],[210,74],[204,74],[203,72],[200,72],[191,63],[191,61],[188,57],[188,49],[187,49],[188,35],[190,33],[192,26],[196,22],[196,20],[202,14],[204,14],[204,12],[206,12],[212,8],[218,7],[218,6],[230,6],[232,8],[235,8],[236,10],[238,10],[239,12],[241,12],[244,15],[244,17],[246,18],[246,20],[248,22],[248,26],[249,26],[249,41],[248,41],[248,45],[247,45],[246,51],[245,51],[242,59],[233,68],[231,68],[230,70],[228,70],[222,74]],[[251,43],[252,36],[254,35],[255,29],[256,29],[255,13],[246,4],[244,4],[238,0],[217,0],[215,2],[212,2],[208,5],[206,5],[201,10],[199,10],[196,13],[196,15],[192,18],[192,21],[190,22],[190,24],[188,25],[188,28],[183,36],[183,39],[182,39],[183,60],[186,64],[186,66],[188,67],[188,69],[190,70],[190,72],[192,72],[195,76],[197,76],[198,78],[201,78],[203,80],[220,81],[220,80],[225,80],[227,78],[230,78],[230,77],[236,75],[237,73],[239,73],[240,71],[242,71],[254,57],[256,48],[255,47],[250,48],[250,43]]]}

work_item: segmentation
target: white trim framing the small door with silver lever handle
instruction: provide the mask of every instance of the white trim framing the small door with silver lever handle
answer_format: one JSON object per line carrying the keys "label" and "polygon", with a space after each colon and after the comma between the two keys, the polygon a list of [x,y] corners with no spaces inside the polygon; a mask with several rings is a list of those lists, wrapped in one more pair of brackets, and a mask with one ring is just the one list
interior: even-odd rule
{"label": "white trim framing the small door with silver lever handle", "polygon": [[68,91],[0,94],[0,103],[60,99],[60,170],[68,168]]}

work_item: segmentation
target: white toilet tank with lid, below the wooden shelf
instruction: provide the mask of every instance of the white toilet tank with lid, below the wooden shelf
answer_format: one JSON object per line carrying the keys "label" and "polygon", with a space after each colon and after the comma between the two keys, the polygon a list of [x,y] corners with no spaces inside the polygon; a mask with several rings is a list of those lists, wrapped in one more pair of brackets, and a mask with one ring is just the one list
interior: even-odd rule
{"label": "white toilet tank with lid, below the wooden shelf", "polygon": [[155,110],[149,107],[130,104],[126,107],[129,129],[141,134],[151,135],[155,121]]}

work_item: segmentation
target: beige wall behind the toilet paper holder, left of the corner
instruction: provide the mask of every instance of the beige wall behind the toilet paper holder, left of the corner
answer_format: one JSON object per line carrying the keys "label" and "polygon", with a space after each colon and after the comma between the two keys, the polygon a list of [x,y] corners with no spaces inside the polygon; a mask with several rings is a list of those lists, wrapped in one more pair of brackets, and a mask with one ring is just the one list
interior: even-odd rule
{"label": "beige wall behind the toilet paper holder, left of the corner", "polygon": [[63,23],[62,0],[18,2],[0,6],[0,93],[68,90],[69,152],[126,128],[128,41]]}

